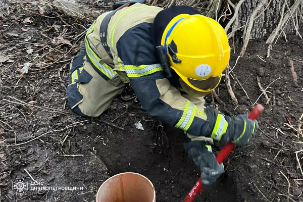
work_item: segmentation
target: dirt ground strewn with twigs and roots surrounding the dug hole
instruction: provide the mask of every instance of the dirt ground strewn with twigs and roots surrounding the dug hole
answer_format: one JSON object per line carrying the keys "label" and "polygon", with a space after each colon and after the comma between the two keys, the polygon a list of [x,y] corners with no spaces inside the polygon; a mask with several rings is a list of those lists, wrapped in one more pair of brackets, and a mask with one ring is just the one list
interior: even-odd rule
{"label": "dirt ground strewn with twigs and roots surrounding the dug hole", "polygon": [[[98,118],[81,118],[66,102],[69,63],[92,20],[68,17],[47,1],[1,0],[0,19],[0,200],[94,201],[109,176],[137,172],[153,182],[157,201],[182,201],[199,177],[184,152],[184,134],[150,118],[131,87]],[[232,152],[225,174],[195,201],[303,201],[303,135],[297,137],[303,41],[287,37],[273,45],[269,58],[265,40],[250,41],[238,61],[241,44],[235,46],[231,86],[238,105],[224,77],[218,97],[206,97],[226,115],[248,113],[255,102],[265,112],[257,135]],[[268,104],[257,77],[263,88],[269,86]],[[135,127],[139,121],[144,130]],[[214,152],[221,147],[216,143]],[[16,194],[16,178],[28,182],[24,193]],[[33,184],[75,189],[31,190]]]}

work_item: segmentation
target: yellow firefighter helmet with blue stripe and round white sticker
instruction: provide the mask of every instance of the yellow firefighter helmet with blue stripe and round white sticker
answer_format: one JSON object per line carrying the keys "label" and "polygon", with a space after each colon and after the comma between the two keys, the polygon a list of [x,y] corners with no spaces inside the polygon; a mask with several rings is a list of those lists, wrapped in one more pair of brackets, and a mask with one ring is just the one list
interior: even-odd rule
{"label": "yellow firefighter helmet with blue stripe and round white sticker", "polygon": [[222,26],[203,15],[181,14],[167,25],[161,45],[184,91],[205,95],[215,89],[230,58]]}

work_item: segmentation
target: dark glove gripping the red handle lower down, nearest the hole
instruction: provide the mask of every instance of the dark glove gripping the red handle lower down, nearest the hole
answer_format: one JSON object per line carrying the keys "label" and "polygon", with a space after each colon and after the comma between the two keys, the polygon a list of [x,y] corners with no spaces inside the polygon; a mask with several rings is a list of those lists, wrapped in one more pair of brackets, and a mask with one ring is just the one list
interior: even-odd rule
{"label": "dark glove gripping the red handle lower down, nearest the hole", "polygon": [[217,162],[210,145],[204,145],[201,141],[191,141],[184,143],[184,148],[199,167],[203,184],[214,183],[224,172],[223,164]]}

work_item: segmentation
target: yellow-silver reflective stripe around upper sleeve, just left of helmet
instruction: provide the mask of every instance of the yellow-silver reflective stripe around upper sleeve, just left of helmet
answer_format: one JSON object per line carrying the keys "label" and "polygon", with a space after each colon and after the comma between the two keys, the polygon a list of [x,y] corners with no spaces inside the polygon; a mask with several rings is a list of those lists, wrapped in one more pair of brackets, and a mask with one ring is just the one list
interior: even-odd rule
{"label": "yellow-silver reflective stripe around upper sleeve, just left of helmet", "polygon": [[140,65],[140,66],[124,65],[124,68],[128,77],[140,77],[158,71],[163,71],[163,68],[161,67],[160,64]]}

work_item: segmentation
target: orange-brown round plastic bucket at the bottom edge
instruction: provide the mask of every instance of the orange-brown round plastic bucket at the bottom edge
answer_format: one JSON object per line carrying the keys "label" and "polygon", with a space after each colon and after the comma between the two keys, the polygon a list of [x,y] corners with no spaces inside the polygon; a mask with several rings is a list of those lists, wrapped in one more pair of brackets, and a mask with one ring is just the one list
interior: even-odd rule
{"label": "orange-brown round plastic bucket at the bottom edge", "polygon": [[96,202],[156,202],[156,192],[143,175],[120,173],[100,186]]}

